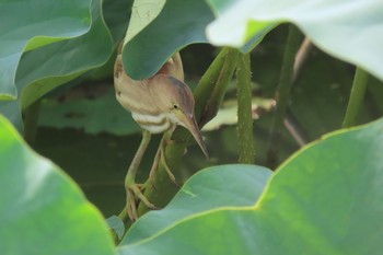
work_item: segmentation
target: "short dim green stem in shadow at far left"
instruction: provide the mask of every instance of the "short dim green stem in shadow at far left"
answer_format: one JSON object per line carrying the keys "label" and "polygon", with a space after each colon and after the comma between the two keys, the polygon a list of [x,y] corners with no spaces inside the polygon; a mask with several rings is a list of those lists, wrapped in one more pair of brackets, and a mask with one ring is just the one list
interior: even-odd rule
{"label": "short dim green stem in shadow at far left", "polygon": [[36,141],[40,102],[35,101],[24,112],[24,139],[30,146]]}

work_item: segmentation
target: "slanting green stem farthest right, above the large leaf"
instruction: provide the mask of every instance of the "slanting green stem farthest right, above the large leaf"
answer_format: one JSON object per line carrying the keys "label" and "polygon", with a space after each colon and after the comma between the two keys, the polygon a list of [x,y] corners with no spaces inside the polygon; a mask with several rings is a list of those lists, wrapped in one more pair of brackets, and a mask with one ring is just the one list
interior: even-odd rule
{"label": "slanting green stem farthest right, above the large leaf", "polygon": [[341,125],[343,128],[352,127],[357,124],[358,115],[362,107],[364,100],[367,83],[369,80],[369,73],[361,68],[357,68],[353,78],[353,83],[350,93],[350,100],[348,101],[346,116]]}

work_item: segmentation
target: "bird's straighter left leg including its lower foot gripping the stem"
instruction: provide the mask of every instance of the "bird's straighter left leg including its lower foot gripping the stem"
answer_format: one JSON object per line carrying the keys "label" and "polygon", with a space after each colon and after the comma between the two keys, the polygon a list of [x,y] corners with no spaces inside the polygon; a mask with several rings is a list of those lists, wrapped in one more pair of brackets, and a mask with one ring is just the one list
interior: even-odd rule
{"label": "bird's straighter left leg including its lower foot gripping the stem", "polygon": [[137,171],[141,163],[142,157],[149,146],[150,138],[150,132],[143,130],[140,147],[138,148],[135,158],[129,166],[128,173],[125,177],[125,189],[127,195],[126,210],[131,220],[136,220],[138,218],[136,205],[137,200],[142,201],[149,208],[155,209],[155,206],[143,196],[141,189],[136,184]]}

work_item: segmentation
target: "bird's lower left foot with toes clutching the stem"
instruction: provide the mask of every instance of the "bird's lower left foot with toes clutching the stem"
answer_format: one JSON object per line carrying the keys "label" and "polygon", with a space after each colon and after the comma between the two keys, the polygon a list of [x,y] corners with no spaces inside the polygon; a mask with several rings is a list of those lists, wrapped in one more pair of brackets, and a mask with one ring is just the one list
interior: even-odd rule
{"label": "bird's lower left foot with toes clutching the stem", "polygon": [[139,202],[143,202],[150,209],[159,209],[153,204],[151,204],[148,198],[142,194],[142,185],[136,184],[135,182],[126,182],[126,211],[130,220],[136,221],[138,219],[137,208]]}

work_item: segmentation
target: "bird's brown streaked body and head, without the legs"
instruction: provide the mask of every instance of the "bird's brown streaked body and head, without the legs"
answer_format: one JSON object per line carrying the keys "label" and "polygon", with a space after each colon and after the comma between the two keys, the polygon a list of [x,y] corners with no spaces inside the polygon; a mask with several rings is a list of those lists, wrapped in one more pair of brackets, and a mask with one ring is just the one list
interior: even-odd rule
{"label": "bird's brown streaked body and head, without the legs", "polygon": [[118,55],[114,76],[116,97],[150,134],[164,132],[181,125],[192,132],[207,154],[194,118],[193,93],[182,81],[183,78],[179,54],[175,54],[155,76],[140,81],[127,76],[123,68],[121,55]]}

